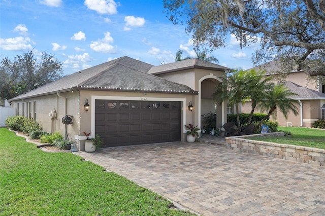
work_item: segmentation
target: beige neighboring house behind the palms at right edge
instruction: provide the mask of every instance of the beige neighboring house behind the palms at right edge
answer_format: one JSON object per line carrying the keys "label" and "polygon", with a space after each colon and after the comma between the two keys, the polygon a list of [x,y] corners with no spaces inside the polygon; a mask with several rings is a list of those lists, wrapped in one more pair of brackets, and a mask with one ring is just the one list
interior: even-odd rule
{"label": "beige neighboring house behind the palms at right edge", "polygon": [[[265,69],[267,76],[276,76],[279,71],[279,66],[276,64],[276,61],[271,61],[252,69]],[[319,86],[317,80],[310,80],[308,75],[302,70],[293,70],[285,78],[285,81],[280,82],[280,84],[284,84],[291,92],[297,94],[292,98],[298,102],[297,109],[299,114],[295,116],[289,113],[288,119],[286,120],[281,112],[277,112],[277,118],[271,118],[271,120],[277,120],[280,126],[312,127],[314,121],[325,118],[324,87]],[[242,113],[250,113],[250,111],[250,102],[242,105]]]}

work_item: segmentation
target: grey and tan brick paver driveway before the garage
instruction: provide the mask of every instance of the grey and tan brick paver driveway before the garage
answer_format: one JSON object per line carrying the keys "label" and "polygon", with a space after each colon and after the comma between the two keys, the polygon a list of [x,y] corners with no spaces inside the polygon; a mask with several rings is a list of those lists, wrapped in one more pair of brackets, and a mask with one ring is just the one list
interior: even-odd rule
{"label": "grey and tan brick paver driveway before the garage", "polygon": [[325,215],[321,166],[204,142],[76,154],[203,215]]}

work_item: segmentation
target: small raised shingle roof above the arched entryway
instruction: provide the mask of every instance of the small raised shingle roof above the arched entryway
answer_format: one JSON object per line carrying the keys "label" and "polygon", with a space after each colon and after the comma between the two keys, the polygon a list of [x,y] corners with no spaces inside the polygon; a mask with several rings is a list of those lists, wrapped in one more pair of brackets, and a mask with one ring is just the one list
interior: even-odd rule
{"label": "small raised shingle roof above the arched entryway", "polygon": [[199,58],[191,58],[182,61],[176,61],[169,64],[163,64],[155,67],[151,67],[148,71],[148,74],[158,75],[158,74],[166,74],[173,71],[191,69],[191,68],[202,68],[209,70],[230,70],[228,67],[224,67],[218,64],[214,64],[208,61],[204,61]]}

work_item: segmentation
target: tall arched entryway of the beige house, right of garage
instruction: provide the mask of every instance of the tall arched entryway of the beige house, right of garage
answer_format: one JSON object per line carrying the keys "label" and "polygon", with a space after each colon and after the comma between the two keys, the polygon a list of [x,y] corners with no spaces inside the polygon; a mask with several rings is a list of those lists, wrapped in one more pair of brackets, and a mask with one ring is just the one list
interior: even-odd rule
{"label": "tall arched entryway of the beige house, right of garage", "polygon": [[225,123],[225,107],[224,102],[221,104],[215,101],[212,94],[215,91],[215,87],[220,85],[222,80],[214,75],[208,75],[202,77],[199,80],[199,112],[198,112],[198,119],[199,119],[199,126],[202,128],[205,126],[203,122],[203,117],[206,114],[216,113],[216,126],[221,126]]}

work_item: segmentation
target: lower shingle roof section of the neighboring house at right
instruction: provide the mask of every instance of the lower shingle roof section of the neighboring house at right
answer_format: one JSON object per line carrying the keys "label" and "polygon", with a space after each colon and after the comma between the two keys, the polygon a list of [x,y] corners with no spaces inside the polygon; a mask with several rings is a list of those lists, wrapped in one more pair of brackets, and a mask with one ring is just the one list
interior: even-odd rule
{"label": "lower shingle roof section of the neighboring house at right", "polygon": [[302,87],[293,82],[284,82],[285,87],[287,87],[291,92],[296,93],[297,95],[292,96],[293,99],[302,99],[302,100],[316,100],[316,99],[325,99],[325,94],[320,93],[315,90],[311,90],[306,87]]}

